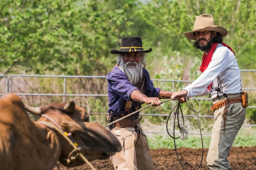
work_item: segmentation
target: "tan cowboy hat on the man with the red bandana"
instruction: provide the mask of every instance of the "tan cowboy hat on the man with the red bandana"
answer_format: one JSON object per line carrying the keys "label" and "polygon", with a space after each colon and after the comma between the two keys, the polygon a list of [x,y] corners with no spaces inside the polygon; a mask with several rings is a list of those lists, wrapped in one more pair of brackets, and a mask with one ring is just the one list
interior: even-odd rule
{"label": "tan cowboy hat on the man with the red bandana", "polygon": [[190,40],[196,40],[194,34],[196,31],[216,31],[221,34],[221,37],[225,37],[228,33],[226,28],[215,26],[211,14],[202,14],[196,16],[193,31],[185,32],[183,34]]}

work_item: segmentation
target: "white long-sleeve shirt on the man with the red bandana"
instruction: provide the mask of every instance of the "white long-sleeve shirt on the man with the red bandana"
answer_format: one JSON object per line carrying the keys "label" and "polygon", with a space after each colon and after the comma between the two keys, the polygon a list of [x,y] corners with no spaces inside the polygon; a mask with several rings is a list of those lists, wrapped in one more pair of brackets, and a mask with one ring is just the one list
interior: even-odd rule
{"label": "white long-sleeve shirt on the man with the red bandana", "polygon": [[[186,97],[212,94],[212,99],[216,98],[217,91],[214,89],[209,91],[207,87],[217,77],[221,91],[227,96],[228,94],[241,93],[241,76],[236,57],[230,49],[221,44],[217,45],[212,55],[212,61],[204,73],[190,85],[183,88],[188,92]],[[218,94],[219,96],[223,95],[221,92]]]}

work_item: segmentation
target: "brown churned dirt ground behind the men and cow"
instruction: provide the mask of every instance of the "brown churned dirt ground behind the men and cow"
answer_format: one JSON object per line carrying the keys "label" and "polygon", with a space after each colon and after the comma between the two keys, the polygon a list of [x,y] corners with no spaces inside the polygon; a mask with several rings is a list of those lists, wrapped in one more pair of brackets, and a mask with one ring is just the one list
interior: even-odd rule
{"label": "brown churned dirt ground behind the men and cow", "polygon": [[[208,149],[204,149],[204,159],[200,170],[208,170],[206,156]],[[200,161],[201,149],[179,148],[177,150],[180,161],[187,170],[195,170]],[[155,149],[151,150],[156,170],[182,170],[177,160],[174,149]],[[256,147],[232,147],[228,157],[232,170],[256,170]],[[98,170],[113,170],[111,161],[95,160],[91,162]],[[58,163],[60,170],[90,170],[88,165],[82,165],[75,168],[67,168]],[[53,170],[58,170],[55,167]]]}

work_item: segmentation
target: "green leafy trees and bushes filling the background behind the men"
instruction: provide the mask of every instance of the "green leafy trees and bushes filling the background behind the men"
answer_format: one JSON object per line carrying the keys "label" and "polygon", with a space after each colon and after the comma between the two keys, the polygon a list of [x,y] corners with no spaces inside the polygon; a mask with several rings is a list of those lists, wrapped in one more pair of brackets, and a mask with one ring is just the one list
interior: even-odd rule
{"label": "green leafy trees and bushes filling the background behind the men", "polygon": [[224,41],[236,52],[240,67],[255,68],[255,7],[250,0],[3,1],[0,68],[3,73],[20,72],[15,66],[21,65],[36,74],[106,74],[115,63],[109,52],[119,48],[124,36],[143,37],[155,57],[175,55],[174,60],[193,63],[191,57],[201,58],[201,52],[183,32],[191,31],[195,15],[203,13],[228,29]]}

